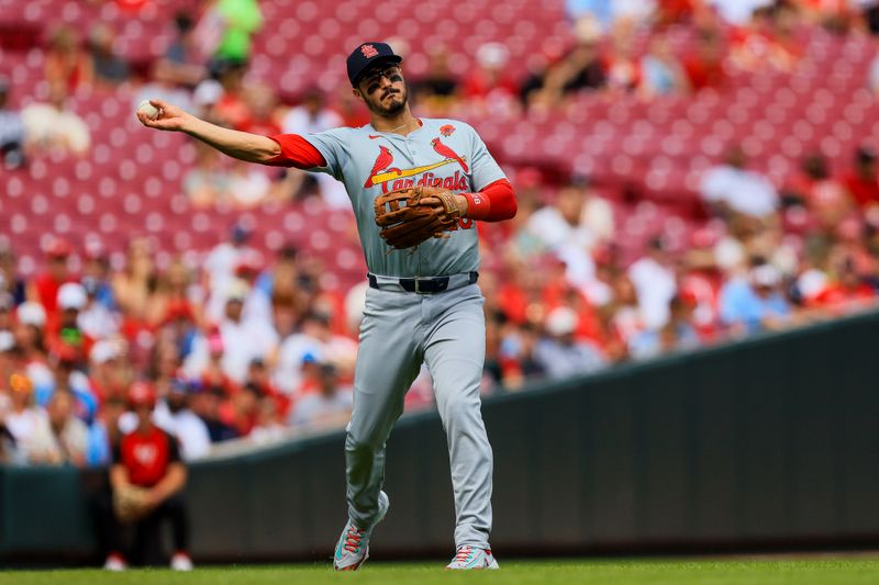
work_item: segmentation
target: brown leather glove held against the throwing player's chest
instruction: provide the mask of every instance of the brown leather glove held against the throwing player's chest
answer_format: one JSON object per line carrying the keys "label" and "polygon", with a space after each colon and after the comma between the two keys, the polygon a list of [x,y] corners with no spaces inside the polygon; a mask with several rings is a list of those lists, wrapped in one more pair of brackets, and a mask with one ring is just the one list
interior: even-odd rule
{"label": "brown leather glove held against the throwing player's chest", "polygon": [[403,250],[447,237],[461,216],[455,194],[438,187],[410,187],[376,198],[376,224],[388,246]]}

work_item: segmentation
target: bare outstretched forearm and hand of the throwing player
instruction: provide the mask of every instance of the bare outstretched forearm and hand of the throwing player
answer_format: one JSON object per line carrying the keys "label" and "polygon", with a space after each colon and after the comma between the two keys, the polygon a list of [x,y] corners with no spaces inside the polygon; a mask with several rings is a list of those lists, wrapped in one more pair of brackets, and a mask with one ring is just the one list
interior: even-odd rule
{"label": "bare outstretched forearm and hand of the throwing player", "polygon": [[266,164],[281,154],[280,145],[267,136],[238,132],[211,124],[162,100],[149,100],[149,103],[158,108],[158,114],[151,119],[145,112],[138,111],[137,120],[144,126],[183,132],[223,154],[247,162]]}

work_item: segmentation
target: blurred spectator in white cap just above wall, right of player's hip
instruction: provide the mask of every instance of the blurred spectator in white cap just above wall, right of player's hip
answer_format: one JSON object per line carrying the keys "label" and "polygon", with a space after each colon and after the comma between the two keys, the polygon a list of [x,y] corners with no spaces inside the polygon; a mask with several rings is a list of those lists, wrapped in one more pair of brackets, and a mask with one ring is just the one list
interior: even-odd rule
{"label": "blurred spectator in white cap just above wall, right of player's hip", "polygon": [[546,335],[537,341],[534,358],[549,379],[593,372],[605,364],[593,344],[577,340],[577,312],[568,306],[557,306],[546,316]]}

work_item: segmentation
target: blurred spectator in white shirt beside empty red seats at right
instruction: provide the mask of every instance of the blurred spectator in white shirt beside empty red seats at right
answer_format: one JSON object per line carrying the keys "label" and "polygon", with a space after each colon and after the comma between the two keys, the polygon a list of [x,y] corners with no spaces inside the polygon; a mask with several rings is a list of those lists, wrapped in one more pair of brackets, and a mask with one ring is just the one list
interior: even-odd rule
{"label": "blurred spectator in white shirt beside empty red seats at right", "polygon": [[705,171],[700,193],[705,204],[722,217],[743,214],[769,218],[779,206],[778,193],[763,175],[745,169],[745,153],[736,147],[726,155],[724,164]]}

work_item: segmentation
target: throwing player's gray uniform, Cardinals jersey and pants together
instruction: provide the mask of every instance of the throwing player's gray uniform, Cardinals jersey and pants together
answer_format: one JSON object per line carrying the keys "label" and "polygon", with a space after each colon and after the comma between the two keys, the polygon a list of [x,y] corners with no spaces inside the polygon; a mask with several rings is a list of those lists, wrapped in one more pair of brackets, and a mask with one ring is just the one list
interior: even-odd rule
{"label": "throwing player's gray uniform, Cardinals jersey and pants together", "polygon": [[[326,160],[318,170],[345,184],[370,273],[345,442],[348,513],[361,528],[375,522],[385,443],[424,362],[448,442],[455,544],[488,548],[492,458],[479,400],[486,336],[483,299],[475,284],[476,229],[472,221],[461,220],[448,238],[392,250],[379,237],[372,202],[379,193],[419,184],[479,191],[504,175],[468,124],[421,122],[408,136],[371,125],[304,136]],[[414,284],[409,279],[415,277],[431,280]],[[447,281],[437,284],[443,277]]]}

